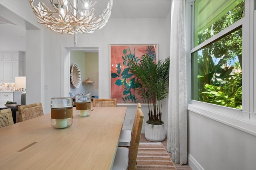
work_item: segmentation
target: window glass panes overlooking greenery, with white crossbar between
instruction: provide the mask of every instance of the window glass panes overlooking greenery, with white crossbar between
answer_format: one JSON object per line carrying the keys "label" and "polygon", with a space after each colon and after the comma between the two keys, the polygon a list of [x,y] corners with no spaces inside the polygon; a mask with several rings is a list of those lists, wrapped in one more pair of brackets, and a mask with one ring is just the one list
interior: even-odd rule
{"label": "window glass panes overlooking greenery, with white crossbar between", "polygon": [[194,0],[191,99],[243,109],[244,0]]}

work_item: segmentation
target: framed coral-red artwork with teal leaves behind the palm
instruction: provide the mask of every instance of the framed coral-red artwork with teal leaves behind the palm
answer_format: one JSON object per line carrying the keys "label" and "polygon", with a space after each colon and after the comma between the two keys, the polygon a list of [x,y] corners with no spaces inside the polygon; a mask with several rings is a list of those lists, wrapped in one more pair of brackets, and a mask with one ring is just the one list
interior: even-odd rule
{"label": "framed coral-red artwork with teal leaves behind the palm", "polygon": [[116,98],[118,104],[145,103],[136,91],[138,77],[130,72],[127,63],[142,55],[150,55],[156,61],[157,54],[157,44],[110,45],[111,98]]}

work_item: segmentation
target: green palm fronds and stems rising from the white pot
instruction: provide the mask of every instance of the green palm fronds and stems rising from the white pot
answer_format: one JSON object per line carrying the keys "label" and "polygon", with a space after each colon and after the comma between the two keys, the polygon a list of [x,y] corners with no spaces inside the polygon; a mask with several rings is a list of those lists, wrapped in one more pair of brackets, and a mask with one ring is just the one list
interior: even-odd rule
{"label": "green palm fronds and stems rising from the white pot", "polygon": [[138,77],[141,84],[138,95],[148,102],[149,117],[161,122],[162,100],[168,96],[170,57],[155,63],[154,58],[144,54],[139,60],[134,56],[127,63],[130,72]]}

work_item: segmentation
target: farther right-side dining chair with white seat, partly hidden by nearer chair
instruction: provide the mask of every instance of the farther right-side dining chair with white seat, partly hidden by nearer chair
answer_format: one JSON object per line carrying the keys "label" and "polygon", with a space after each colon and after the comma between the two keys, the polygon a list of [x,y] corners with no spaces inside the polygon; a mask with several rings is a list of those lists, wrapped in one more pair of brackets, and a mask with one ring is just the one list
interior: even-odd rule
{"label": "farther right-side dining chair with white seat, partly hidden by nearer chair", "polygon": [[[138,108],[141,108],[140,103],[137,104],[137,109]],[[135,120],[136,118],[137,118],[137,116],[135,115],[134,121],[136,121]],[[134,124],[132,125],[132,129],[133,128],[134,128]],[[131,143],[131,135],[132,135],[132,130],[124,130],[123,129],[120,133],[120,136],[119,136],[118,147],[128,147],[129,148],[130,143]]]}

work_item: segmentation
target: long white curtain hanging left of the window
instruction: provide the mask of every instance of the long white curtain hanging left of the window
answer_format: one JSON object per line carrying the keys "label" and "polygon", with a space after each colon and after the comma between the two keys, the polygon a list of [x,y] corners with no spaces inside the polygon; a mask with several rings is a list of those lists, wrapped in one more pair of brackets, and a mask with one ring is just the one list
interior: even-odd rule
{"label": "long white curtain hanging left of the window", "polygon": [[172,0],[167,150],[187,163],[185,0]]}

